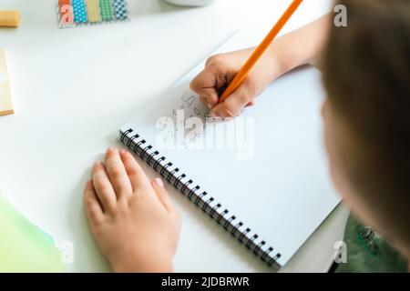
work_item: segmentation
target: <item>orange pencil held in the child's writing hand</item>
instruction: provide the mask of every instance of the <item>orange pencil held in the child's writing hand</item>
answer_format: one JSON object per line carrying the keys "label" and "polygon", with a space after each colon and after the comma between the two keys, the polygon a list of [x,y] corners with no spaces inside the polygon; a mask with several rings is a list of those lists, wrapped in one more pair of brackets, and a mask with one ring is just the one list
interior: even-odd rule
{"label": "orange pencil held in the child's writing hand", "polygon": [[301,5],[302,1],[303,0],[293,0],[292,4],[288,7],[288,9],[286,9],[276,25],[273,26],[269,34],[266,35],[266,37],[263,39],[261,45],[258,45],[258,47],[256,47],[255,51],[252,53],[248,61],[246,61],[245,65],[242,65],[239,72],[232,79],[231,84],[228,85],[228,87],[220,96],[220,102],[223,102],[229,95],[231,95],[236,89],[238,89],[243,80],[251,71],[253,65],[258,62],[258,60],[261,58],[261,55],[263,55],[269,45],[272,44],[273,39],[281,32],[283,26],[286,25],[296,9],[299,7],[299,5]]}

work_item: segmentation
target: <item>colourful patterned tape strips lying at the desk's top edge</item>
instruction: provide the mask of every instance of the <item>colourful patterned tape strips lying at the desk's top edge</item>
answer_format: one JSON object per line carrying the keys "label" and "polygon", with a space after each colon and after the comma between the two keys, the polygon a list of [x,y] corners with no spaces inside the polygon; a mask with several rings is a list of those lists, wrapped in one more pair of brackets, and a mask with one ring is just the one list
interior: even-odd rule
{"label": "colourful patterned tape strips lying at the desk's top edge", "polygon": [[128,19],[126,0],[58,0],[58,12],[63,27]]}

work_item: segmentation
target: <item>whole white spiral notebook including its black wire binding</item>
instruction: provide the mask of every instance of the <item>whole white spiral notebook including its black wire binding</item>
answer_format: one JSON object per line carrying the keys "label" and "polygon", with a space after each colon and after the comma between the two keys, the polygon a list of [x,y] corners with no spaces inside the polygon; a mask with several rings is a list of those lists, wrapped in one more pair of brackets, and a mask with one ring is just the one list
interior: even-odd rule
{"label": "whole white spiral notebook including its black wire binding", "polygon": [[[260,39],[240,32],[213,54]],[[340,201],[323,150],[320,73],[304,67],[284,75],[239,118],[200,127],[208,110],[189,85],[203,66],[138,112],[119,138],[231,236],[279,269]]]}

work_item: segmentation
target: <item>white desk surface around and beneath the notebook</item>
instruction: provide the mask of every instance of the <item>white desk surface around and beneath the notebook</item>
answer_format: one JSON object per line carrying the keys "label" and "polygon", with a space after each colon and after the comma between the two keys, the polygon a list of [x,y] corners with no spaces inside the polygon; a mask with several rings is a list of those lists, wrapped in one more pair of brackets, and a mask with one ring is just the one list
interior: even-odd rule
{"label": "white desk surface around and beneath the notebook", "polygon": [[[305,1],[286,31],[323,15],[329,3]],[[108,146],[118,145],[119,126],[234,31],[268,29],[286,5],[219,0],[180,9],[160,0],[129,0],[126,24],[59,30],[54,1],[1,1],[0,9],[21,11],[22,25],[0,29],[15,103],[15,115],[0,117],[0,188],[57,242],[73,242],[69,271],[108,271],[88,231],[82,195],[89,167]],[[169,191],[183,222],[176,271],[270,271]],[[343,209],[333,213],[283,271],[326,271],[345,217]]]}

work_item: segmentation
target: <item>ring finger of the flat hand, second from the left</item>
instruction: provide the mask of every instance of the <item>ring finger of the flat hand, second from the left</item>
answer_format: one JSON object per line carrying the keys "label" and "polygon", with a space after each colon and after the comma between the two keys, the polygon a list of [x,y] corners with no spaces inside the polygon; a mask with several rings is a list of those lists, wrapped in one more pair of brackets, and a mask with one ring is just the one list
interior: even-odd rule
{"label": "ring finger of the flat hand, second from the left", "polygon": [[102,163],[96,163],[93,166],[92,177],[93,186],[104,212],[114,211],[117,206],[117,196]]}

